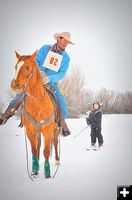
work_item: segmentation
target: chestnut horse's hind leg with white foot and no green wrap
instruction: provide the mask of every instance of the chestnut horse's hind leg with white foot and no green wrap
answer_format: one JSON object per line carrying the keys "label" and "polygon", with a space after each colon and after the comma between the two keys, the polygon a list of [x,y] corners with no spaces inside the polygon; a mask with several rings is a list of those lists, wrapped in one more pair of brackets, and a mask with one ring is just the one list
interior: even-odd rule
{"label": "chestnut horse's hind leg with white foot and no green wrap", "polygon": [[58,156],[58,128],[54,129],[54,148],[55,148],[55,164],[59,165],[59,156]]}

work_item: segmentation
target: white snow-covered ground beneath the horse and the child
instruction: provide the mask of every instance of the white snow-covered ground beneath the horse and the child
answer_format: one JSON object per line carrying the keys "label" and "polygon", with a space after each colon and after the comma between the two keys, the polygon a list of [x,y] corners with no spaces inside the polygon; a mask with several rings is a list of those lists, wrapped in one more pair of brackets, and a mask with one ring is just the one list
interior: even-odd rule
{"label": "white snow-covered ground beneath the horse and the child", "polygon": [[[40,176],[32,182],[26,172],[24,129],[13,118],[0,127],[1,200],[116,200],[117,185],[132,184],[132,115],[103,115],[102,151],[86,151],[90,129],[85,119],[68,119],[72,135],[60,138],[61,165],[55,179]],[[30,146],[29,146],[30,152]],[[54,154],[53,154],[54,155]],[[54,158],[51,159],[54,174]],[[29,154],[31,167],[31,154]]]}

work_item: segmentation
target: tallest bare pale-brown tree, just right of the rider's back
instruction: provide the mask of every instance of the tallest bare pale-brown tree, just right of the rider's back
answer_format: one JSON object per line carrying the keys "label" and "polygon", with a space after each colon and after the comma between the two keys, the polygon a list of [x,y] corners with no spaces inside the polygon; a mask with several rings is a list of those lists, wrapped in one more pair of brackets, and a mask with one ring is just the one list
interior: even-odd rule
{"label": "tallest bare pale-brown tree, just right of the rider's back", "polygon": [[69,116],[77,117],[82,109],[85,80],[79,67],[73,67],[60,83],[68,102]]}

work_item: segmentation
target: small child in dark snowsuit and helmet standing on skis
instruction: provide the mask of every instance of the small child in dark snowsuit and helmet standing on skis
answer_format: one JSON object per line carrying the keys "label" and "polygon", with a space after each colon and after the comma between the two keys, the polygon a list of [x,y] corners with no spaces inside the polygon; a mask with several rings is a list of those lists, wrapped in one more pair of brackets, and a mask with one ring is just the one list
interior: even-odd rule
{"label": "small child in dark snowsuit and helmet standing on skis", "polygon": [[103,136],[101,134],[101,122],[102,122],[102,103],[95,101],[92,105],[92,111],[89,116],[86,117],[86,122],[91,127],[91,148],[96,148],[96,140],[98,140],[98,147],[103,146]]}

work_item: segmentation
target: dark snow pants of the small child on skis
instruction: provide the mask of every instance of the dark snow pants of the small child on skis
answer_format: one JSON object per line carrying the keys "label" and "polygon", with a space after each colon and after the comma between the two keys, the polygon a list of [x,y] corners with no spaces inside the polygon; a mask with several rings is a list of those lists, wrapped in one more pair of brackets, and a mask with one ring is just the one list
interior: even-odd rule
{"label": "dark snow pants of the small child on skis", "polygon": [[103,144],[103,136],[101,134],[100,128],[92,128],[91,129],[91,144],[96,143],[96,138],[98,139],[99,145]]}

